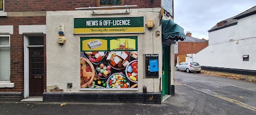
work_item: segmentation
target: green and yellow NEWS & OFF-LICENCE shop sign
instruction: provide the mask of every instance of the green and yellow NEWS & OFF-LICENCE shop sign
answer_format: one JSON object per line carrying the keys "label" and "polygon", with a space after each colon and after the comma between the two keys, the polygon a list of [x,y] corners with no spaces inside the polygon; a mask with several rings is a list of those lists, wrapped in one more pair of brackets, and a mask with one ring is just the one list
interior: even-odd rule
{"label": "green and yellow NEWS & OFF-LICENCE shop sign", "polygon": [[75,18],[74,34],[143,33],[144,17]]}

